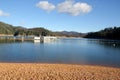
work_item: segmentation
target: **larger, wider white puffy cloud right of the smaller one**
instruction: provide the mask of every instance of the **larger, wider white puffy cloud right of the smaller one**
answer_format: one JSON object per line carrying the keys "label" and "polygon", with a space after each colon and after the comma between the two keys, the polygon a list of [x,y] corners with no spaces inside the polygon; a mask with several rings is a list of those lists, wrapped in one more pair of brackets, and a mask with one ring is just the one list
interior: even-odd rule
{"label": "larger, wider white puffy cloud right of the smaller one", "polygon": [[92,6],[87,3],[74,2],[74,0],[66,0],[57,5],[59,13],[68,13],[72,16],[88,13],[92,10]]}

